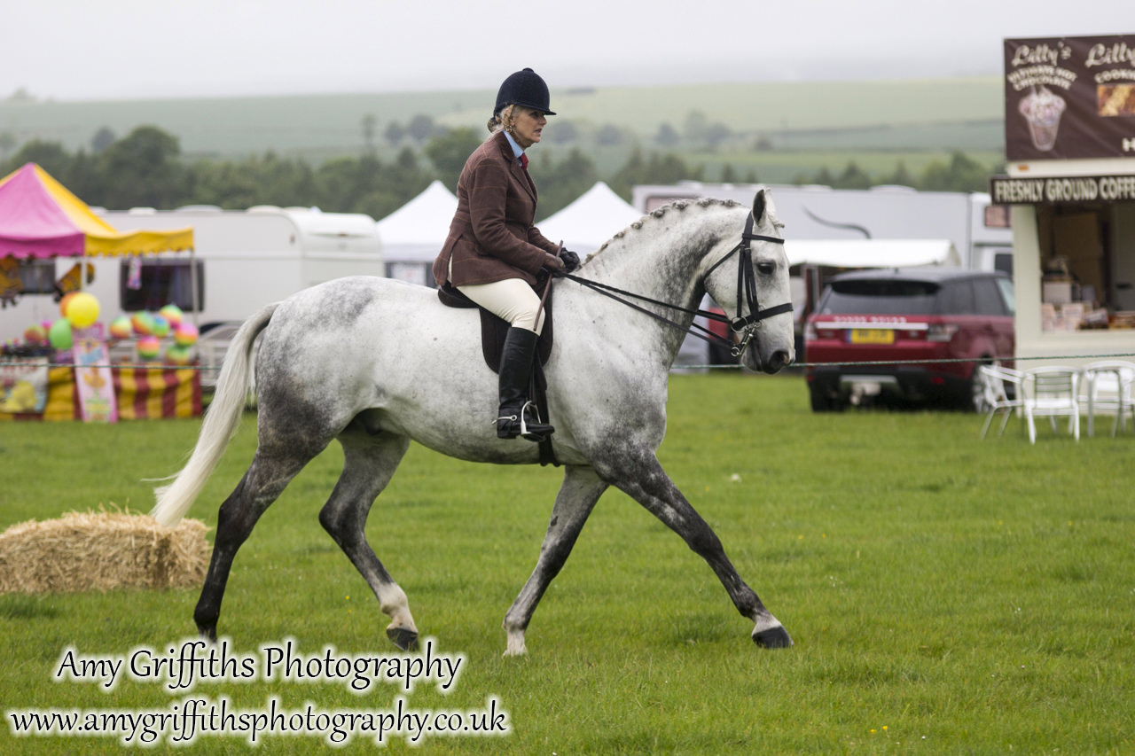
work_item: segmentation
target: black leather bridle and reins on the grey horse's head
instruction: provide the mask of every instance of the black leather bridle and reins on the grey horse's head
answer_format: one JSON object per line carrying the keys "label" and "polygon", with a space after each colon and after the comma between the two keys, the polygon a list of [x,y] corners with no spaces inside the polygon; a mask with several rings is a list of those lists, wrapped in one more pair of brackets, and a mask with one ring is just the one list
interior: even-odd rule
{"label": "black leather bridle and reins on the grey horse's head", "polygon": [[[655,320],[664,322],[667,326],[671,326],[673,328],[678,328],[679,330],[686,331],[686,333],[690,334],[691,336],[697,336],[698,338],[700,338],[704,342],[724,344],[724,345],[726,345],[726,346],[730,347],[730,354],[732,354],[735,358],[739,358],[742,354],[745,354],[745,350],[749,345],[749,341],[753,338],[753,336],[756,333],[756,330],[758,328],[760,328],[760,321],[765,320],[766,318],[772,318],[773,316],[779,316],[779,314],[782,314],[784,312],[791,312],[792,311],[792,303],[791,302],[784,302],[783,304],[777,304],[775,306],[766,308],[764,310],[760,309],[760,304],[757,301],[757,282],[756,282],[756,277],[755,277],[755,275],[753,272],[753,250],[750,247],[750,243],[754,242],[754,241],[772,242],[774,244],[783,244],[784,243],[784,240],[777,238],[775,236],[765,236],[764,234],[754,234],[753,233],[753,213],[749,213],[748,217],[745,219],[745,232],[741,234],[741,241],[738,242],[738,244],[733,249],[731,249],[729,252],[726,252],[722,257],[721,260],[718,260],[717,262],[715,262],[713,264],[713,267],[711,267],[709,270],[706,271],[706,275],[705,275],[705,277],[708,278],[709,275],[714,270],[716,270],[718,267],[721,267],[721,264],[723,262],[725,262],[731,257],[733,257],[734,253],[738,255],[738,258],[739,258],[739,260],[738,260],[738,267],[737,267],[737,306],[738,306],[738,317],[733,318],[732,320],[730,320],[724,314],[718,314],[716,312],[709,312],[708,310],[700,310],[700,309],[699,310],[690,310],[689,308],[683,308],[683,306],[680,306],[678,304],[670,304],[669,302],[659,302],[658,300],[653,300],[653,299],[650,299],[648,296],[642,296],[640,294],[633,294],[631,292],[625,292],[625,291],[623,291],[621,288],[616,288],[614,286],[608,286],[606,284],[600,284],[598,282],[589,280],[587,278],[580,278],[579,276],[574,276],[572,274],[554,274],[554,276],[556,278],[568,278],[569,280],[573,280],[577,284],[581,284],[583,286],[587,286],[588,288],[592,288],[592,289],[599,292],[600,294],[609,296],[611,299],[615,300],[616,302],[622,302],[623,304],[625,304],[627,306],[629,306],[629,308],[631,308],[633,310],[638,310],[639,312],[642,312],[645,314],[650,316]],[[741,301],[742,301],[741,297],[742,297],[742,295],[745,297],[745,305],[746,305],[746,308],[749,311],[749,314],[747,314],[745,317],[741,317],[741,313],[740,313]],[[740,339],[737,343],[734,343],[733,339],[718,336],[717,334],[713,333],[708,328],[706,328],[706,327],[704,327],[704,326],[701,326],[699,324],[696,324],[696,322],[691,324],[689,328],[683,328],[681,325],[674,322],[673,320],[669,320],[669,319],[666,319],[666,318],[664,318],[664,317],[662,317],[659,314],[656,314],[656,313],[651,312],[650,310],[647,310],[646,308],[642,308],[642,306],[639,306],[638,304],[634,304],[633,302],[628,302],[627,300],[622,299],[623,296],[630,296],[630,297],[633,297],[636,300],[639,300],[639,301],[642,301],[642,302],[649,302],[650,304],[657,304],[657,305],[661,305],[661,306],[664,306],[664,308],[669,308],[671,310],[680,310],[682,312],[690,312],[695,317],[701,316],[706,320],[713,320],[715,322],[725,322],[725,324],[729,324],[729,326],[733,330],[733,333],[734,334],[740,334],[741,337],[740,337]],[[697,333],[697,331],[703,331],[703,333]]]}

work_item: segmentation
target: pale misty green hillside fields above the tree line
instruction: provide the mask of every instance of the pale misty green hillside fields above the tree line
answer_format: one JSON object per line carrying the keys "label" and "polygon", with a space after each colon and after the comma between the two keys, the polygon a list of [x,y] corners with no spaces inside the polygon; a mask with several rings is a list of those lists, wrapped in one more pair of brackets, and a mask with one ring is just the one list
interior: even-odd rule
{"label": "pale misty green hillside fields above the tree line", "polygon": [[[59,142],[68,151],[90,150],[94,134],[116,136],[138,125],[176,135],[187,158],[234,158],[274,151],[321,160],[354,154],[393,123],[418,115],[447,127],[484,128],[491,91],[392,94],[309,94],[137,101],[0,101],[0,157],[30,140]],[[553,92],[561,115],[585,137],[615,126],[642,146],[669,124],[678,133],[691,118],[722,124],[721,146],[750,152],[836,150],[940,156],[951,150],[998,154],[1002,149],[1002,93],[997,77],[889,82],[799,82],[709,84],[665,87],[596,87]],[[707,160],[707,163],[713,160]]]}

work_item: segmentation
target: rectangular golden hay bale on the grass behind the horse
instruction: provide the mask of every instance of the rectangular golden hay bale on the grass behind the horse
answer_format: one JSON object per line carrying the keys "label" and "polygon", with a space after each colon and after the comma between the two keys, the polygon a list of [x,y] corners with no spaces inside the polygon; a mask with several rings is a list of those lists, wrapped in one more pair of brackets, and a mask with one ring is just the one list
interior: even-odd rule
{"label": "rectangular golden hay bale on the grass behind the horse", "polygon": [[185,588],[204,580],[205,524],[167,528],[127,512],[69,512],[0,534],[0,594]]}

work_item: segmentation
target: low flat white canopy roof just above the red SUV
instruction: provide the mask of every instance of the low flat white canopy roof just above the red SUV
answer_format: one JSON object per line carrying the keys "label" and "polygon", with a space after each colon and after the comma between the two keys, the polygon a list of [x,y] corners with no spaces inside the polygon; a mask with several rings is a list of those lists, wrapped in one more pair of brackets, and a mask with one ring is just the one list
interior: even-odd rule
{"label": "low flat white canopy roof just above the red SUV", "polygon": [[833,268],[913,268],[960,266],[953,242],[945,238],[855,238],[784,241],[789,264]]}

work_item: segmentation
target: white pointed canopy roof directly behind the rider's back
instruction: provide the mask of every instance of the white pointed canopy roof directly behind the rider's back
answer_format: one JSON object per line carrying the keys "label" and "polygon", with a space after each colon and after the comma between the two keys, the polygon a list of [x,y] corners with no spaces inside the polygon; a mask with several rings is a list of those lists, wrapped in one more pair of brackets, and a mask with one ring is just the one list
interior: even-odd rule
{"label": "white pointed canopy roof directly behind the rider's back", "polygon": [[378,236],[387,262],[432,262],[449,235],[457,198],[439,180],[379,220]]}

